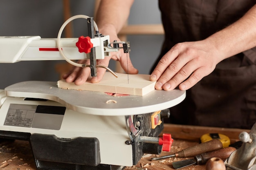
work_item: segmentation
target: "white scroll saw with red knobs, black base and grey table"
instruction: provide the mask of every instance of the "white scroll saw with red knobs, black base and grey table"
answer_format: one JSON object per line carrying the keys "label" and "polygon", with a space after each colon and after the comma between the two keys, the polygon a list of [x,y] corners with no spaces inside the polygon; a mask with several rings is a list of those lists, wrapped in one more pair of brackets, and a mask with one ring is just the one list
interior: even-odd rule
{"label": "white scroll saw with red knobs, black base and grey table", "polygon": [[[76,18],[87,20],[89,36],[61,38],[65,25]],[[96,76],[97,67],[112,72],[96,61],[120,49],[128,53],[130,43],[110,42],[109,35],[99,33],[93,18],[76,15],[63,24],[57,39],[0,37],[0,62],[65,59],[90,67]],[[71,61],[81,59],[90,64]],[[29,141],[37,170],[122,169],[136,165],[145,153],[170,150],[171,135],[158,137],[163,117],[184,98],[185,91],[177,89],[116,97],[62,89],[56,82],[20,82],[0,91],[0,137]]]}

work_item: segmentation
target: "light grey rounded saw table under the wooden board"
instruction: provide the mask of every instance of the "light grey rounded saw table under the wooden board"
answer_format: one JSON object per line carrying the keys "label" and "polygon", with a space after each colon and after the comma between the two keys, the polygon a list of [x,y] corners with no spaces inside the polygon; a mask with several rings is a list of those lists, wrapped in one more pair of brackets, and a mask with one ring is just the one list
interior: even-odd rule
{"label": "light grey rounded saw table under the wooden board", "polygon": [[[171,108],[184,100],[186,91],[155,90],[144,96],[111,96],[102,92],[58,88],[56,82],[28,81],[4,89],[10,97],[31,97],[59,102],[67,108],[92,115],[138,115]],[[107,103],[115,100],[117,103]]]}

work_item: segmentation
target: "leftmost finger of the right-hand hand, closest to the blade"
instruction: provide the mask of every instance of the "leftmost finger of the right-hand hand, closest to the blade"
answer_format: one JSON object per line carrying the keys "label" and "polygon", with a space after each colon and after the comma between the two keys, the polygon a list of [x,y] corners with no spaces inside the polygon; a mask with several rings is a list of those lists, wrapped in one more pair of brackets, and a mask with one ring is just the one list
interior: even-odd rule
{"label": "leftmost finger of the right-hand hand, closest to the blade", "polygon": [[[157,81],[159,77],[166,71],[168,66],[179,56],[177,46],[173,46],[158,62],[154,71],[150,75],[150,81]],[[174,67],[175,68],[175,67]]]}

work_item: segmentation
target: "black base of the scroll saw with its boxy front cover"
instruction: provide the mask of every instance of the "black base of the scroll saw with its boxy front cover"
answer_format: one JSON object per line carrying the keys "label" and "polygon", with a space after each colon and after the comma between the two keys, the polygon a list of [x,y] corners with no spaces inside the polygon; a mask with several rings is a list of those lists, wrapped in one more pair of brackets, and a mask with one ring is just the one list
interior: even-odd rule
{"label": "black base of the scroll saw with its boxy front cover", "polygon": [[[37,170],[122,170],[124,166],[100,164],[99,141],[97,138],[60,139],[54,135],[0,130],[0,139],[29,141]],[[0,140],[6,141],[6,140]],[[83,143],[83,145],[81,145]],[[86,145],[85,143],[90,143]],[[74,148],[67,151],[67,146]],[[81,148],[81,146],[83,146]],[[34,149],[33,149],[34,148]],[[38,148],[38,149],[36,149]],[[64,148],[64,150],[63,150]],[[89,149],[90,148],[90,149]],[[79,154],[77,153],[79,150]],[[86,153],[85,153],[86,151]],[[93,152],[93,153],[90,153]],[[82,153],[82,155],[80,155]],[[95,154],[96,153],[96,154]],[[56,156],[58,155],[58,156]],[[66,162],[58,162],[58,158]],[[86,161],[83,159],[86,157]],[[76,159],[73,163],[72,159]],[[89,161],[88,161],[89,160]],[[67,163],[71,161],[71,163]]]}

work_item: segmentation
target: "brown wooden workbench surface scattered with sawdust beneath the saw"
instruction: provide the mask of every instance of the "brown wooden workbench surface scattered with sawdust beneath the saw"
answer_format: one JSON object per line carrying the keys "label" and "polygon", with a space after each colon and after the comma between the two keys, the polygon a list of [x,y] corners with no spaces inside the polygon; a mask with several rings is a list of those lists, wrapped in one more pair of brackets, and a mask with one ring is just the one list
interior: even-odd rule
{"label": "brown wooden workbench surface scattered with sawdust beneath the saw", "polygon": [[[202,126],[184,126],[164,124],[163,133],[170,133],[174,139],[170,152],[162,152],[160,156],[170,155],[184,148],[199,143],[200,137],[205,133],[221,133],[227,135],[231,143],[238,141],[240,132],[249,130],[234,128],[214,128]],[[0,139],[2,140],[2,139]],[[111,156],[111,153],[110,153]],[[151,161],[156,155],[144,155],[136,166],[125,167],[125,170],[173,170],[172,162],[186,158],[167,158]],[[3,170],[36,170],[33,154],[28,141],[2,140],[0,143],[0,169]],[[205,170],[204,165],[188,166],[181,170]]]}

